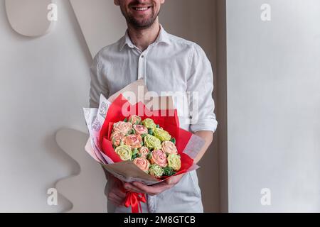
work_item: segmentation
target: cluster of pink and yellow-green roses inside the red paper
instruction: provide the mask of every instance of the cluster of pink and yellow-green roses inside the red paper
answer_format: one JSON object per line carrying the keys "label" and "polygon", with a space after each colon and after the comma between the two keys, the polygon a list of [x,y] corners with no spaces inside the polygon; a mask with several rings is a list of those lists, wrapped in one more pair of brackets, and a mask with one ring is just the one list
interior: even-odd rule
{"label": "cluster of pink and yellow-green roses inside the red paper", "polygon": [[133,115],[114,123],[111,140],[121,160],[132,160],[153,177],[170,177],[181,169],[176,139],[151,118]]}

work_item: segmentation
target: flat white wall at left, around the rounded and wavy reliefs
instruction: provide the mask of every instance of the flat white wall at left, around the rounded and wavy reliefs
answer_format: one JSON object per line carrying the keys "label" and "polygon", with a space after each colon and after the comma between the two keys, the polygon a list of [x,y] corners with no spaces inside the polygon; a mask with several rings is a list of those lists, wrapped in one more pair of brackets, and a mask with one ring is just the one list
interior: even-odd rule
{"label": "flat white wall at left, around the rounded and wavy reliefs", "polygon": [[63,127],[85,131],[90,52],[68,1],[57,3],[53,33],[25,38],[11,29],[0,1],[0,211],[55,212],[71,206],[63,197],[58,206],[48,206],[46,192],[78,172],[55,143],[55,133]]}

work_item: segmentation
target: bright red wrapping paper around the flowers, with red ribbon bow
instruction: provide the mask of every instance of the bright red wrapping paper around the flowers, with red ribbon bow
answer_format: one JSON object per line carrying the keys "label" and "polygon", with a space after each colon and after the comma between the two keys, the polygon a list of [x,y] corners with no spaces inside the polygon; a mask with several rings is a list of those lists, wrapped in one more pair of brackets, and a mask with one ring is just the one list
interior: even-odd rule
{"label": "bright red wrapping paper around the flowers, with red ribbon bow", "polygon": [[[129,101],[122,96],[122,94],[117,96],[117,98],[112,102],[107,111],[105,122],[103,123],[100,131],[100,145],[102,147],[102,152],[110,157],[113,162],[122,162],[112,147],[110,136],[112,133],[113,123],[123,121],[124,118],[129,118],[129,116],[124,116],[123,114],[124,111],[122,110],[124,107],[126,108],[125,112],[132,113],[131,115],[138,115],[142,118],[142,120],[145,118],[153,119],[154,122],[159,124],[160,127],[164,128],[165,131],[168,131],[173,138],[176,138],[176,148],[178,150],[178,154],[181,155],[181,170],[176,172],[176,175],[181,175],[182,173],[187,172],[188,169],[193,166],[193,159],[183,153],[183,150],[186,148],[192,133],[179,128],[178,114],[176,109],[150,111],[142,102],[134,105],[130,104]],[[168,177],[162,177],[161,179],[166,178]],[[127,192],[125,206],[132,206],[133,213],[141,211],[140,202],[146,202],[145,195]]]}

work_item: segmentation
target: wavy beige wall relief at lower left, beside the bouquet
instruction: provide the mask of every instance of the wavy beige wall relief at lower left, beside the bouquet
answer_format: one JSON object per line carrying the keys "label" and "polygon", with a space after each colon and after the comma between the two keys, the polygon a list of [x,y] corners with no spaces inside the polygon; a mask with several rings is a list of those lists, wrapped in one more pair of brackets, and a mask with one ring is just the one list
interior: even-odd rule
{"label": "wavy beige wall relief at lower left, beside the bouquet", "polygon": [[59,147],[78,163],[78,172],[57,182],[56,189],[72,202],[68,212],[107,212],[104,198],[105,174],[84,150],[88,135],[70,128],[63,128],[55,135]]}

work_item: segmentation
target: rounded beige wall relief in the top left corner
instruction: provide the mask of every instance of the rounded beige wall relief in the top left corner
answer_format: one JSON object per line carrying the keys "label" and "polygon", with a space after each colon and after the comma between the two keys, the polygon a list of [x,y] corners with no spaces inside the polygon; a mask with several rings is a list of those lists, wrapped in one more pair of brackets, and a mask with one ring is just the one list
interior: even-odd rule
{"label": "rounded beige wall relief in the top left corner", "polygon": [[58,18],[53,0],[6,0],[5,5],[11,27],[25,36],[46,35]]}

